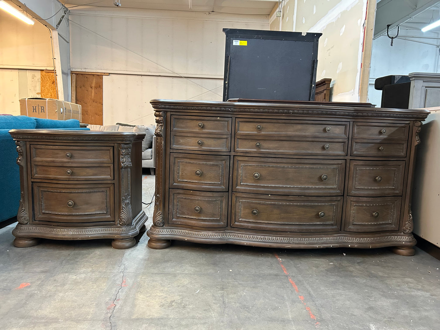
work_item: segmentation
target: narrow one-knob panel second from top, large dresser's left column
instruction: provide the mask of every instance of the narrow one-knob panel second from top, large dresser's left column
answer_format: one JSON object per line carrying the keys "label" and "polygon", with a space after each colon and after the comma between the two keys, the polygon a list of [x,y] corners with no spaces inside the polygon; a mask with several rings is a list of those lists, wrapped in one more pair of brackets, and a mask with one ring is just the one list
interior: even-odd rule
{"label": "narrow one-knob panel second from top, large dresser's left column", "polygon": [[229,151],[230,136],[171,133],[170,148],[181,150]]}

